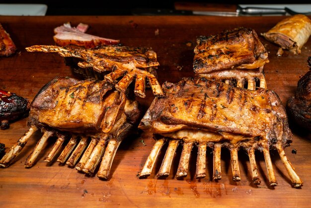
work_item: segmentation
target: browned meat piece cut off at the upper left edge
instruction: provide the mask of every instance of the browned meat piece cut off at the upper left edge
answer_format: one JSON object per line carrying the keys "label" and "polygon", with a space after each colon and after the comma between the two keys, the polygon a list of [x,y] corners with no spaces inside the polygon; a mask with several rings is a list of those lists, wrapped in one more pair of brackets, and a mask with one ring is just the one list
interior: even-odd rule
{"label": "browned meat piece cut off at the upper left edge", "polygon": [[16,46],[10,35],[4,30],[0,24],[0,57],[10,56],[16,52]]}

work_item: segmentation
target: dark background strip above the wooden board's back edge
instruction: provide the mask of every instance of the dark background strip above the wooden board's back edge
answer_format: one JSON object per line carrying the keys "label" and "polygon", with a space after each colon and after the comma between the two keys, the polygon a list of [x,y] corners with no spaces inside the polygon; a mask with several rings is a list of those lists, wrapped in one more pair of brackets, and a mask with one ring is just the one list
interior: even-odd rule
{"label": "dark background strip above the wooden board's back edge", "polygon": [[[82,1],[82,2],[79,2]],[[0,0],[0,3],[43,3],[48,5],[46,15],[133,15],[137,10],[174,9],[175,2],[187,0]],[[195,0],[206,4],[279,4],[279,0]],[[311,3],[310,0],[282,1]]]}

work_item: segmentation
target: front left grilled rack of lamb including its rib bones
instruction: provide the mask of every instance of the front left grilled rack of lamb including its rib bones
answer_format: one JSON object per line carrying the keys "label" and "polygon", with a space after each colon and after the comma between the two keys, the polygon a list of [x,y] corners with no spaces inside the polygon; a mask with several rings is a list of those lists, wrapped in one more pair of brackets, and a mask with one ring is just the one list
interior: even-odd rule
{"label": "front left grilled rack of lamb including its rib bones", "polygon": [[140,115],[138,102],[115,90],[111,83],[56,77],[32,101],[30,128],[3,156],[0,166],[8,167],[31,135],[41,130],[43,136],[25,167],[32,167],[47,139],[56,136],[45,161],[51,162],[70,139],[57,161],[91,175],[101,159],[97,176],[107,179],[120,143],[131,133]]}

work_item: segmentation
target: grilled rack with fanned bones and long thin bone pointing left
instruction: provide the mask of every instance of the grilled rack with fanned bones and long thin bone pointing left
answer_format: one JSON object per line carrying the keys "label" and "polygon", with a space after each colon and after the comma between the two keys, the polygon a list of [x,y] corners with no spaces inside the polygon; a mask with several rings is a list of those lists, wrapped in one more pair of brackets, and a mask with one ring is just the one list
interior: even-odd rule
{"label": "grilled rack with fanned bones and long thin bone pointing left", "polygon": [[[97,72],[110,72],[105,80],[115,83],[115,88],[125,92],[135,79],[134,93],[145,98],[146,81],[149,81],[153,94],[162,97],[163,91],[156,76],[152,73],[159,65],[156,53],[152,50],[127,46],[99,46],[84,49],[70,46],[35,45],[26,48],[29,52],[57,52],[63,57],[75,57],[83,61],[78,63],[81,68],[92,67]],[[121,78],[122,77],[122,78]],[[121,78],[119,80],[119,78]]]}

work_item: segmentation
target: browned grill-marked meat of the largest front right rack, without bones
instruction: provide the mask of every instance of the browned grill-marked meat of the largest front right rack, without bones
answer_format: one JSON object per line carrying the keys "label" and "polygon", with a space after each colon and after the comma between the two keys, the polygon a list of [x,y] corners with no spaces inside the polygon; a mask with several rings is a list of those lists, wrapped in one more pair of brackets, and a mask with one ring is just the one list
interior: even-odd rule
{"label": "browned grill-marked meat of the largest front right rack, without bones", "polygon": [[157,133],[153,125],[159,122],[167,132],[170,125],[180,125],[180,129],[261,137],[271,144],[282,138],[283,147],[291,142],[285,108],[273,91],[250,91],[198,77],[166,82],[163,90],[165,97],[154,100],[140,128]]}

